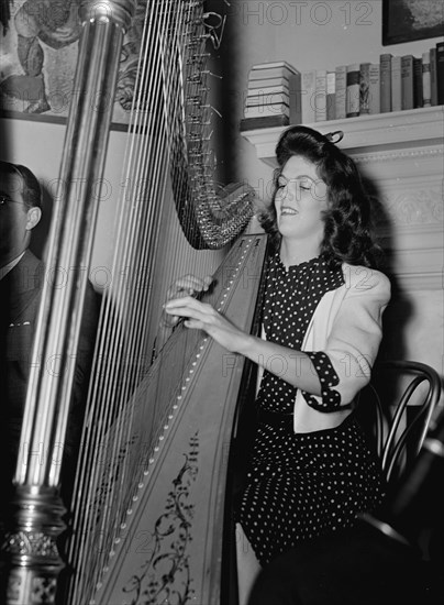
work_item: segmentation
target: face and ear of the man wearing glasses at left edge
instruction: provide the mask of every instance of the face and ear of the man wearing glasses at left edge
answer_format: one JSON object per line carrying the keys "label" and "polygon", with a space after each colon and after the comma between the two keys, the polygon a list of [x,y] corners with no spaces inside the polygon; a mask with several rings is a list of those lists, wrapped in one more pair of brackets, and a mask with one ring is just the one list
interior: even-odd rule
{"label": "face and ear of the man wearing glasses at left edge", "polygon": [[19,175],[0,173],[0,266],[26,250],[34,227],[32,213],[23,200],[23,182]]}

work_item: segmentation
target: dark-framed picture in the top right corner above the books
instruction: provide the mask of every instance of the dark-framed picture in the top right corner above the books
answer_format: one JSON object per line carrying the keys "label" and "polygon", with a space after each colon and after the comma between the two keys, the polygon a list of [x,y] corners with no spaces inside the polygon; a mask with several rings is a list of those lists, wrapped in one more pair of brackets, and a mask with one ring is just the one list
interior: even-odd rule
{"label": "dark-framed picture in the top right corner above the books", "polygon": [[443,34],[443,0],[382,0],[384,46]]}

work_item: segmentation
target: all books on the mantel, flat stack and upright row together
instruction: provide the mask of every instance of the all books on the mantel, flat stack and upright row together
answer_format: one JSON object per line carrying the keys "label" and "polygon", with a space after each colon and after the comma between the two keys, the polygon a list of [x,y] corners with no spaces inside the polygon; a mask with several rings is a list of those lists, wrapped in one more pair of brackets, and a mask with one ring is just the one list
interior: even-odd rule
{"label": "all books on the mantel, flat stack and upright row together", "polygon": [[444,105],[444,42],[413,55],[381,54],[379,63],[299,72],[287,62],[248,74],[241,130]]}

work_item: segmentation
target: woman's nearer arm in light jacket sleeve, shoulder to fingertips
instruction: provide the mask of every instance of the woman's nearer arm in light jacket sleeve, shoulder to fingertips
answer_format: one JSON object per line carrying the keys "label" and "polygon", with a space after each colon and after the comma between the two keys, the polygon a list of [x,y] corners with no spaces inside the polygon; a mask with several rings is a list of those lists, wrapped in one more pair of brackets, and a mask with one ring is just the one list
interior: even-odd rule
{"label": "woman's nearer arm in light jacket sleeve, shoulder to fingertips", "polygon": [[[297,351],[247,334],[211,305],[191,297],[170,300],[165,311],[187,318],[185,324],[188,328],[206,331],[227,351],[244,355],[309,396],[320,398],[320,408],[330,407],[332,387],[338,394],[334,397],[334,407],[337,407],[348,404],[369,380],[382,334],[382,311],[390,298],[388,278],[377,271],[365,270],[363,279],[362,270],[349,267],[344,300],[335,315],[331,333],[324,334],[321,351]],[[336,374],[335,384],[324,381],[321,384],[319,367],[325,363]]]}

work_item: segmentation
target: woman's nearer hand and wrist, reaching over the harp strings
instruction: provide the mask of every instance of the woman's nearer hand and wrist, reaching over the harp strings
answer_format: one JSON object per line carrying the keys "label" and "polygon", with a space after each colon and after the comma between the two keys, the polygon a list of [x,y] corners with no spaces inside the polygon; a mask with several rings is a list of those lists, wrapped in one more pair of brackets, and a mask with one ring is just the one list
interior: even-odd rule
{"label": "woman's nearer hand and wrist, reaching over the harp strings", "polygon": [[236,328],[211,305],[200,302],[192,296],[169,300],[165,305],[165,311],[173,316],[186,318],[184,323],[187,328],[203,330],[231,352],[242,352],[249,338],[249,334]]}

